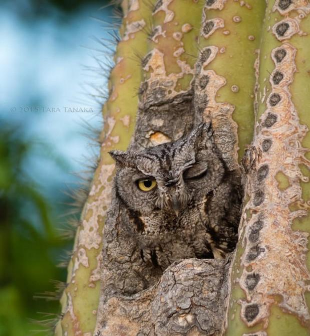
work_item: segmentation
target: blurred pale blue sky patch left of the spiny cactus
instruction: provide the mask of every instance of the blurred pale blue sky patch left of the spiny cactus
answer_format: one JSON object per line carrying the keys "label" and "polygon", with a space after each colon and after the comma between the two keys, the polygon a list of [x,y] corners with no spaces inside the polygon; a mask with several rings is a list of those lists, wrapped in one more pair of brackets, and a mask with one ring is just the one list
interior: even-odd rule
{"label": "blurred pale blue sky patch left of the spiny cactus", "polygon": [[98,152],[83,136],[82,124],[101,126],[101,106],[91,95],[106,87],[106,78],[94,68],[95,58],[105,61],[96,39],[108,37],[104,24],[91,17],[111,21],[110,16],[111,8],[100,10],[98,4],[82,6],[74,15],[54,7],[34,15],[28,1],[2,6],[0,113],[36,146],[44,144],[44,154],[39,148],[29,162],[40,185],[75,181],[69,172],[84,170],[85,157]]}

